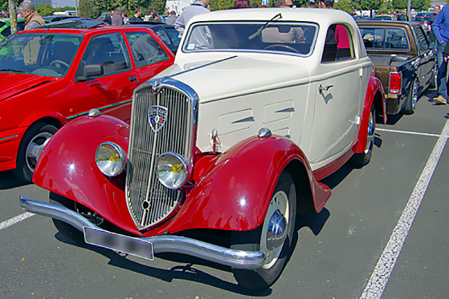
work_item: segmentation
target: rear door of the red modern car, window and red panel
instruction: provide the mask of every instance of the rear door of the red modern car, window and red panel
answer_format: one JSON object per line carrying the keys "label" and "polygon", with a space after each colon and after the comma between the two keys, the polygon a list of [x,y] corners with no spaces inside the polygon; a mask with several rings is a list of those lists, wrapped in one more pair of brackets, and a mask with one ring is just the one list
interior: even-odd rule
{"label": "rear door of the red modern car, window and red panel", "polygon": [[151,79],[163,69],[173,65],[173,54],[163,48],[159,41],[147,31],[126,32],[126,39],[133,55],[135,69],[140,82]]}

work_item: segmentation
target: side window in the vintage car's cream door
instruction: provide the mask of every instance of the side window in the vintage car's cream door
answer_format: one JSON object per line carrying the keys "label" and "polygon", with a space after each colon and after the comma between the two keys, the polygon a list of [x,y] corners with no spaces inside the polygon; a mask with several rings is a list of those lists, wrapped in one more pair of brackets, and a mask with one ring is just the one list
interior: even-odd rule
{"label": "side window in the vintage car's cream door", "polygon": [[322,62],[355,58],[351,32],[345,25],[331,25],[326,34]]}

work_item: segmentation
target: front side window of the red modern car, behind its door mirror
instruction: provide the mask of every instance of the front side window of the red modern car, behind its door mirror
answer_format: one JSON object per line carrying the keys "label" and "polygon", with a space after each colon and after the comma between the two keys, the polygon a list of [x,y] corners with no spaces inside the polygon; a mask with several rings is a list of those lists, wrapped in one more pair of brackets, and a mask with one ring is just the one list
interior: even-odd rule
{"label": "front side window of the red modern car, behind its door mirror", "polygon": [[[101,76],[130,69],[130,60],[123,36],[119,33],[93,37],[84,52],[76,76],[84,76],[86,66],[98,66],[91,76]],[[88,77],[88,76],[86,76]]]}

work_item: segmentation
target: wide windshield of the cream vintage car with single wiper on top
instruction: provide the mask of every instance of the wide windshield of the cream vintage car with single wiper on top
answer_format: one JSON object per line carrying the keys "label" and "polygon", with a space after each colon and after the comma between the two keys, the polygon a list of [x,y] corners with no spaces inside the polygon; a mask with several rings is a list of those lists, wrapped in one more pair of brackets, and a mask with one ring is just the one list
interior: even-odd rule
{"label": "wide windshield of the cream vintage car with single wiper on top", "polygon": [[310,22],[199,23],[187,32],[182,51],[262,51],[308,56],[314,51],[317,33],[318,25]]}

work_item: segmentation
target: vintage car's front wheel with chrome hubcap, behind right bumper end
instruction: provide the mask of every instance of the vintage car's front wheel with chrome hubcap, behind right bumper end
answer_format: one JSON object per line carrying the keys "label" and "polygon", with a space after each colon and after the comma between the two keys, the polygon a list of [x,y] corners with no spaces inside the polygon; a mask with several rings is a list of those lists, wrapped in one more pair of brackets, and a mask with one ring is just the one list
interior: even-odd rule
{"label": "vintage car's front wheel with chrome hubcap, behind right bumper end", "polygon": [[281,276],[290,254],[295,218],[295,184],[290,174],[283,171],[276,183],[262,225],[255,230],[232,232],[232,249],[263,251],[267,255],[265,264],[257,270],[232,269],[241,286],[260,291],[274,284]]}

